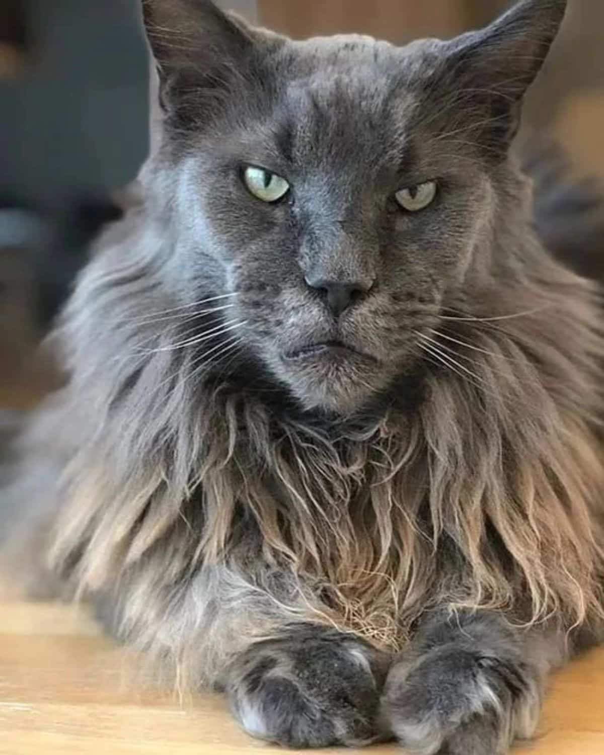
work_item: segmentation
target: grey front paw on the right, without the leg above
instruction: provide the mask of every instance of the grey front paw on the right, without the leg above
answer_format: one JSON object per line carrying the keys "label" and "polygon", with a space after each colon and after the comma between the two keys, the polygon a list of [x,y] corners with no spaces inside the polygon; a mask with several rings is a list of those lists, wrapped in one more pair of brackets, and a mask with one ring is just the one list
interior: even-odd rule
{"label": "grey front paw on the right, without the leg above", "polygon": [[537,726],[541,695],[521,662],[463,643],[411,653],[389,671],[383,714],[420,755],[504,755]]}

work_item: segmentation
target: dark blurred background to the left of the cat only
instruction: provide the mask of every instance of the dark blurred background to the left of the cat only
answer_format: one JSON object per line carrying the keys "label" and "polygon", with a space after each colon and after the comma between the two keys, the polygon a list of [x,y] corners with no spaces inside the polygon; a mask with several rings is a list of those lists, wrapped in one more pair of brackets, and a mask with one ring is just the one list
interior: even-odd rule
{"label": "dark blurred background to the left of the cat only", "polygon": [[140,0],[0,0],[0,408],[48,384],[32,346],[148,152]]}

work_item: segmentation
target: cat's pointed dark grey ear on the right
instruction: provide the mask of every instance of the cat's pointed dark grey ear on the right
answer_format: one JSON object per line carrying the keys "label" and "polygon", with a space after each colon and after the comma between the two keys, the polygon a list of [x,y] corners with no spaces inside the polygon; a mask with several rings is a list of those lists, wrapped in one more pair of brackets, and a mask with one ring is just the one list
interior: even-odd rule
{"label": "cat's pointed dark grey ear on the right", "polygon": [[448,89],[462,95],[493,146],[509,144],[516,135],[522,100],[556,39],[566,5],[567,0],[522,0],[485,29],[445,46]]}

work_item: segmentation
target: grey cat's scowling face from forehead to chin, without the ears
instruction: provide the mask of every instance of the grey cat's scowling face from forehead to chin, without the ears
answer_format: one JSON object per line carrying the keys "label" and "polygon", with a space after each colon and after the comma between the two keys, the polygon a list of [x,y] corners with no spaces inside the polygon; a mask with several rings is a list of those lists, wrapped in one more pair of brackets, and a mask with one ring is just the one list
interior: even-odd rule
{"label": "grey cat's scowling face from forehead to chin, without the ears", "polygon": [[422,124],[404,65],[371,41],[296,45],[271,102],[187,168],[215,291],[237,294],[249,348],[305,405],[355,407],[409,368],[491,217],[475,150],[451,156]]}

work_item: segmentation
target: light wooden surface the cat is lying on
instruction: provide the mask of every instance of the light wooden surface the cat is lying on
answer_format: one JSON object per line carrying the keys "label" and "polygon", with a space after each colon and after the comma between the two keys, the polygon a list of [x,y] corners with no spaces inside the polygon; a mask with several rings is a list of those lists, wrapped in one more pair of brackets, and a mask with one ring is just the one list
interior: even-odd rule
{"label": "light wooden surface the cat is lying on", "polygon": [[[104,638],[83,609],[4,602],[0,617],[0,755],[283,752],[240,732],[220,697],[178,704],[135,674],[127,650]],[[604,652],[556,676],[541,736],[518,753],[604,753]]]}

